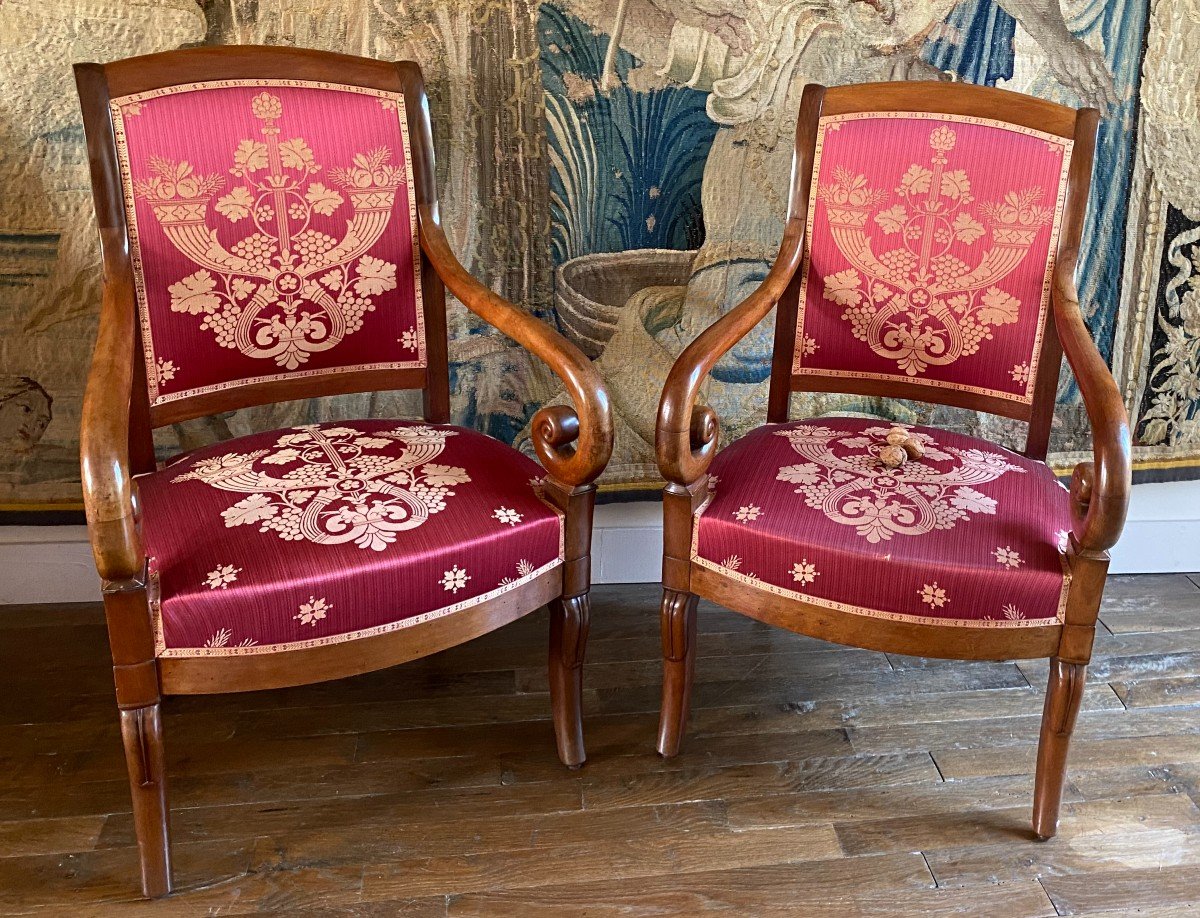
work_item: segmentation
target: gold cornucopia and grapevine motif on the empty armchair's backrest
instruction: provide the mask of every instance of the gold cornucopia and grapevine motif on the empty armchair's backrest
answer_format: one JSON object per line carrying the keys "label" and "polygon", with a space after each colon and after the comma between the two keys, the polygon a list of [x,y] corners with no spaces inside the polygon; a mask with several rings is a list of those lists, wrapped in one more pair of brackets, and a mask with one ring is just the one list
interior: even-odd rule
{"label": "gold cornucopia and grapevine motif on the empty armchair's backrest", "polygon": [[[134,193],[199,268],[168,287],[172,311],[203,316],[200,326],[222,347],[295,370],[358,331],[374,298],[396,288],[396,265],[368,252],[388,228],[406,173],[380,146],[318,180],[324,169],[305,139],[283,139],[280,98],[260,92],[251,109],[260,137],[233,151],[232,181],[151,157],[151,175],[134,182]],[[245,235],[224,245],[209,223],[210,205]],[[340,239],[317,228],[317,217],[347,210]]]}

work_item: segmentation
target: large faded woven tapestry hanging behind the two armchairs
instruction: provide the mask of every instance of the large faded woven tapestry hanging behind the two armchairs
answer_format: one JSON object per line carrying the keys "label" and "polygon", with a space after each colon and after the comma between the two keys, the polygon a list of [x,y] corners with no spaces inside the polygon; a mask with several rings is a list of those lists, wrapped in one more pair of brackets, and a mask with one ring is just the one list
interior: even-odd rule
{"label": "large faded woven tapestry hanging behind the two armchairs", "polygon": [[[1142,480],[1200,475],[1200,0],[7,0],[0,4],[0,511],[79,508],[78,426],[100,300],[77,60],[222,43],[421,64],[446,230],[463,263],[601,367],[611,496],[658,484],[674,358],[766,275],[809,82],[955,79],[1099,107],[1080,294],[1135,428]],[[761,421],[773,319],[706,397]],[[548,370],[451,304],[452,410],[528,445]],[[913,402],[798,395],[1018,445],[1021,425]],[[1090,449],[1064,373],[1051,461]],[[410,416],[404,392],[174,425],[164,452],[257,430]]]}

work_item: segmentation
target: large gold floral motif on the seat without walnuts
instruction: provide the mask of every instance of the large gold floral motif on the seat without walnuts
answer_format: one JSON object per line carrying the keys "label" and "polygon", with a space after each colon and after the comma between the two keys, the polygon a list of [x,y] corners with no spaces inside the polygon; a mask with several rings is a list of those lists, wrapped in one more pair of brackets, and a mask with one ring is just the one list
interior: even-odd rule
{"label": "large gold floral motif on the seat without walnuts", "polygon": [[[259,532],[288,541],[383,551],[396,533],[444,510],[454,487],[470,481],[464,469],[432,462],[452,436],[425,426],[372,436],[350,427],[300,427],[280,437],[272,450],[215,456],[173,481],[245,493],[222,511],[226,527],[258,524]],[[401,456],[374,451],[396,440],[404,445]]]}

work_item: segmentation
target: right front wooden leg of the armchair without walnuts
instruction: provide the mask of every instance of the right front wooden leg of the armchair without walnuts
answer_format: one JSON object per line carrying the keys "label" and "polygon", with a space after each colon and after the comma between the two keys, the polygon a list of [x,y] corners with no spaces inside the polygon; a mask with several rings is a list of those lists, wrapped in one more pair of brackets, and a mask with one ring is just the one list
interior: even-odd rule
{"label": "right front wooden leg of the armchair without walnuts", "polygon": [[550,604],[550,703],[563,764],[578,768],[583,749],[583,653],[592,602],[584,593]]}

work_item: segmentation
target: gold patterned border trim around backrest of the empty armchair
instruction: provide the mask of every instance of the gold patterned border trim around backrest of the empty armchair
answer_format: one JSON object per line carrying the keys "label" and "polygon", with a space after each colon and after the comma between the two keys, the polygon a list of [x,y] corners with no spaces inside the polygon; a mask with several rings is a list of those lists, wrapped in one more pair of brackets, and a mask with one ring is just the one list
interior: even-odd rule
{"label": "gold patterned border trim around backrest of the empty armchair", "polygon": [[[400,133],[404,143],[404,180],[408,191],[408,224],[413,236],[413,289],[415,302],[415,326],[416,326],[416,359],[385,361],[378,364],[362,364],[359,366],[328,367],[324,370],[305,370],[288,373],[271,373],[266,376],[242,377],[224,383],[212,383],[210,385],[185,389],[170,395],[158,392],[158,361],[155,356],[154,335],[150,325],[150,307],[146,299],[145,276],[142,265],[142,244],[139,239],[137,209],[133,200],[133,178],[130,169],[128,142],[125,136],[125,113],[122,106],[140,104],[152,98],[178,95],[180,92],[192,92],[205,89],[233,89],[233,88],[262,88],[281,86],[284,89],[325,89],[336,92],[350,92],[362,96],[371,96],[382,101],[390,101],[395,106]],[[276,383],[283,379],[304,379],[320,376],[340,376],[342,373],[356,373],[371,370],[424,370],[428,366],[425,342],[425,298],[421,289],[421,244],[416,226],[416,186],[413,181],[413,157],[412,145],[408,133],[408,115],[404,110],[404,95],[402,92],[390,92],[382,89],[368,89],[366,86],[354,86],[342,83],[325,83],[322,80],[307,79],[214,79],[200,83],[180,83],[174,86],[162,86],[145,92],[136,92],[128,96],[118,96],[108,103],[113,119],[113,136],[116,140],[116,158],[121,173],[121,194],[125,199],[126,232],[130,238],[130,260],[133,265],[133,287],[138,300],[138,324],[142,329],[142,352],[146,365],[146,385],[150,391],[150,406],[152,408],[169,402],[178,402],[198,395],[221,392],[229,389],[240,389],[244,385],[258,383]]]}

